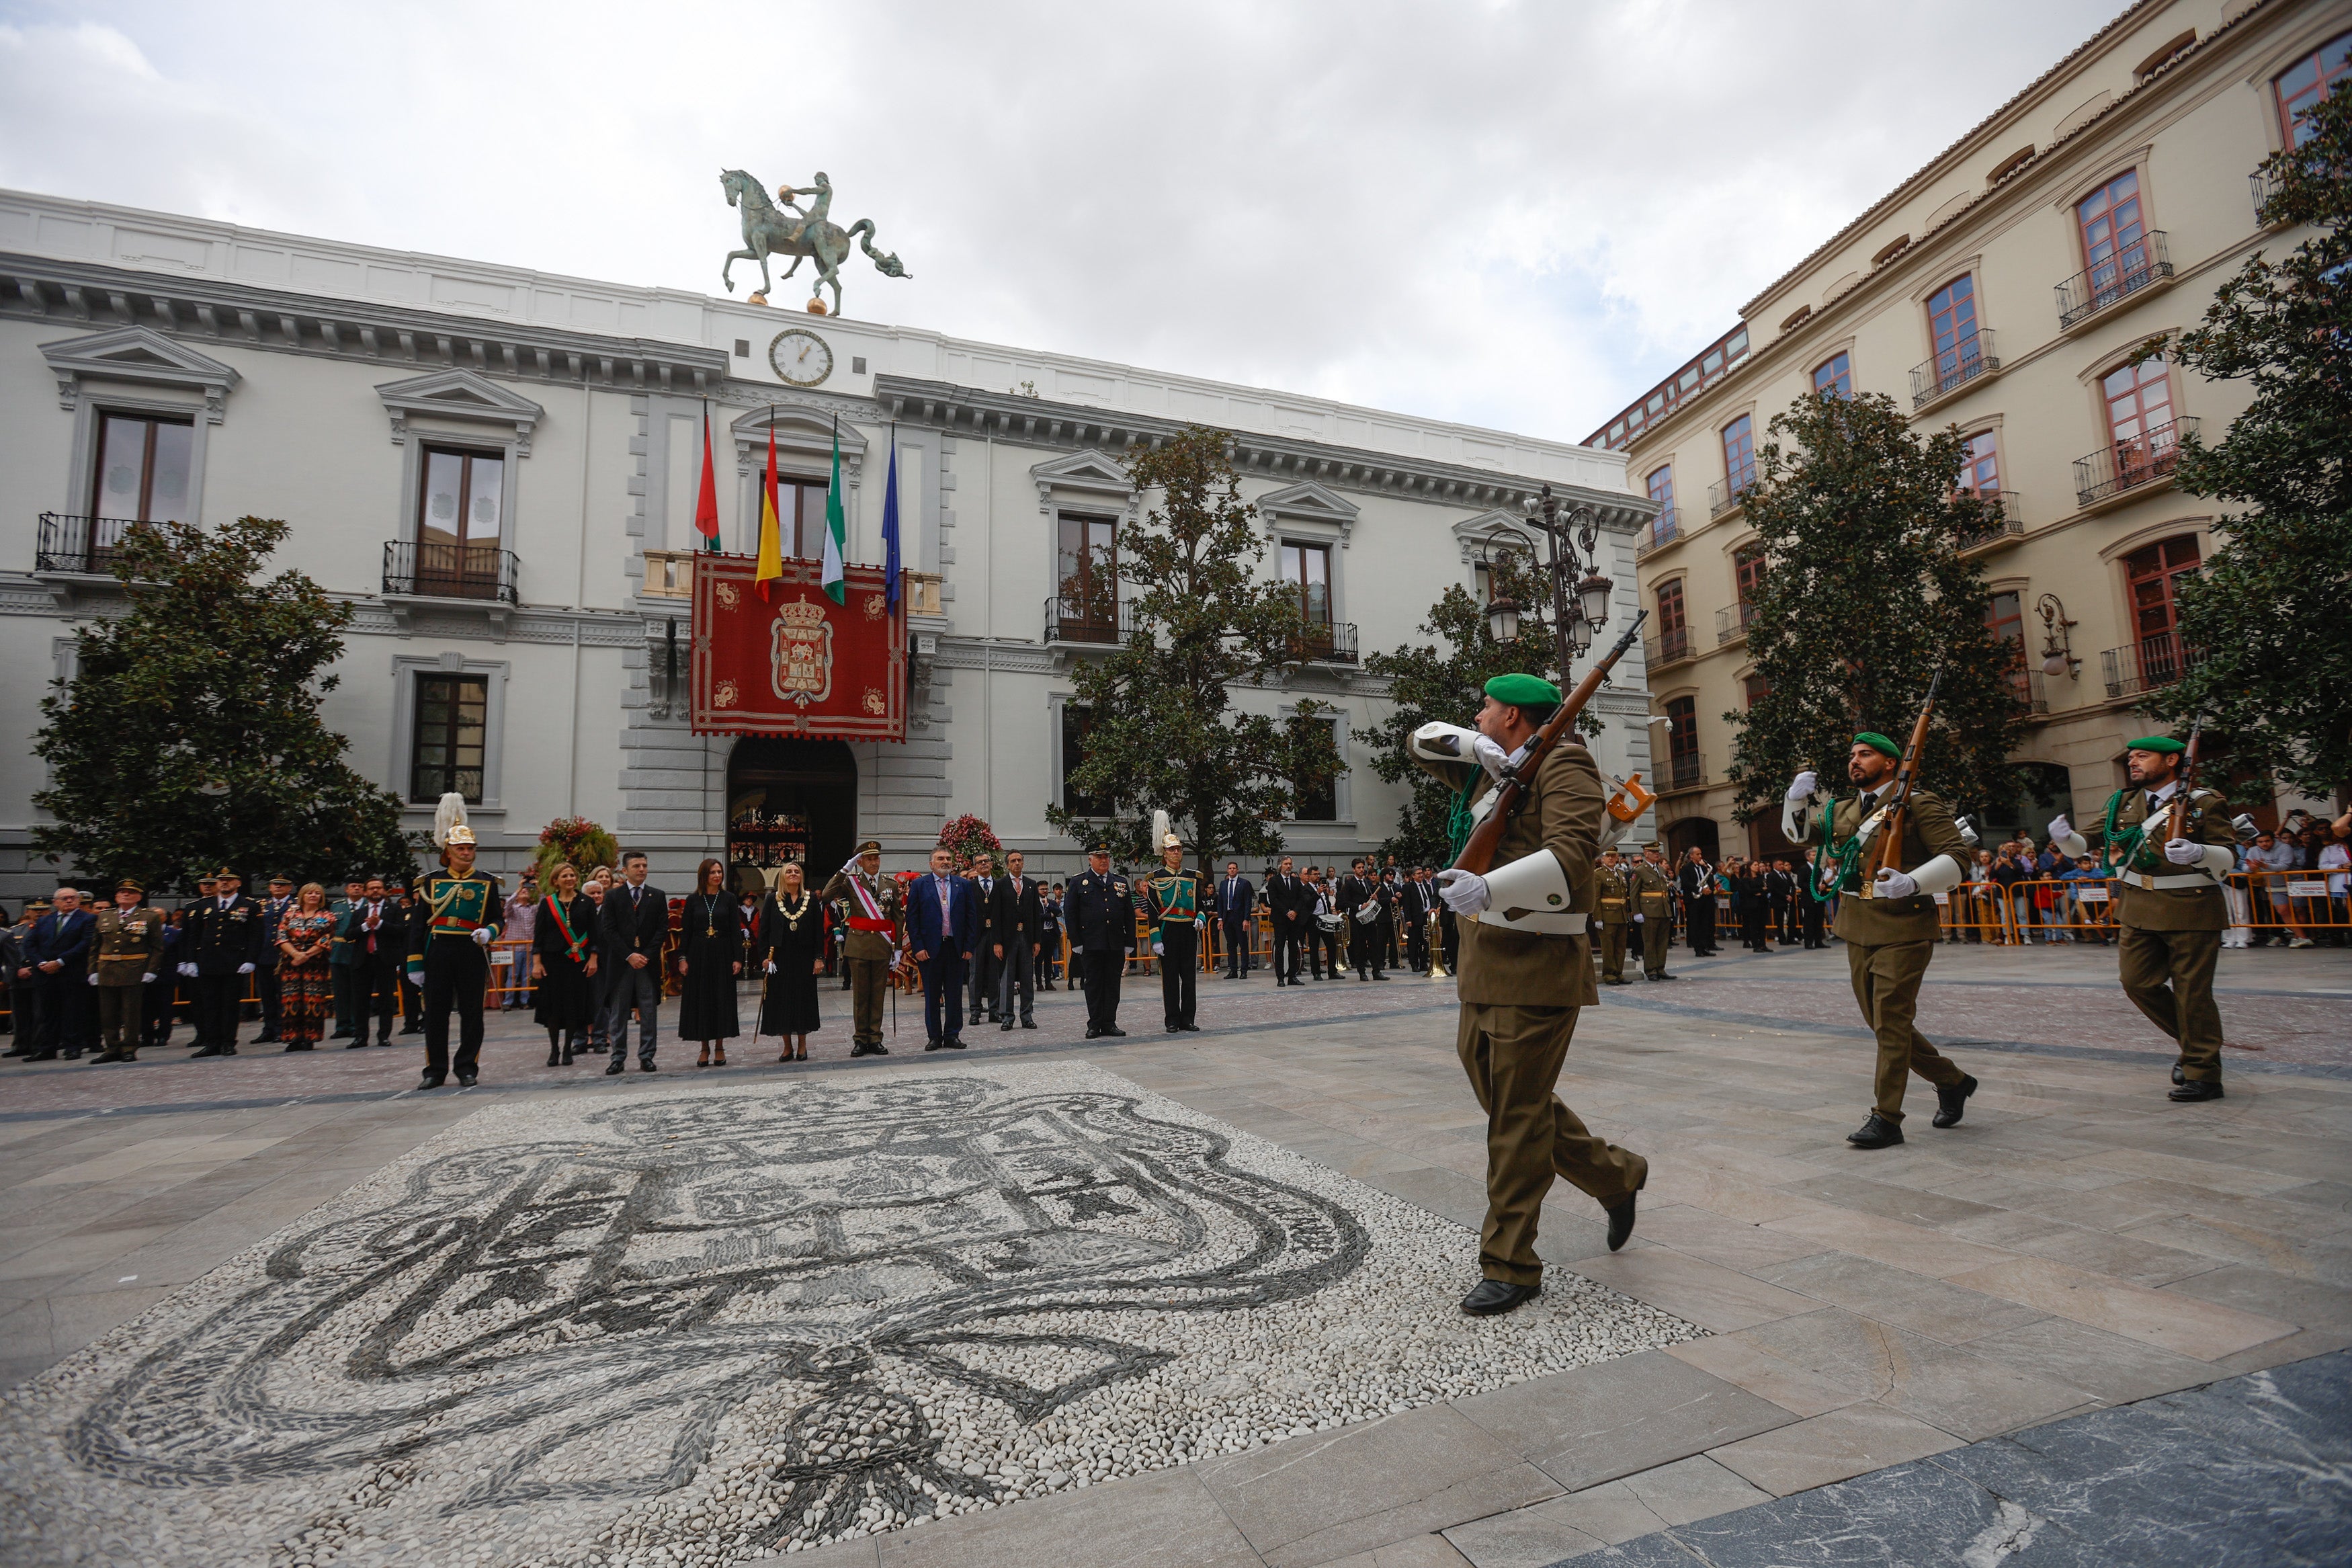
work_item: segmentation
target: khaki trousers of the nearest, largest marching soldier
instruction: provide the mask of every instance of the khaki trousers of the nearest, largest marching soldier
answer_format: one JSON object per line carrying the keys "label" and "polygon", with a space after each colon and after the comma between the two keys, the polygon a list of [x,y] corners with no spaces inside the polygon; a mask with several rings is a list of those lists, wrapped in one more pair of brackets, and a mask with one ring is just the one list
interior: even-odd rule
{"label": "khaki trousers of the nearest, largest marching soldier", "polygon": [[1486,1222],[1477,1255],[1486,1279],[1543,1281],[1536,1220],[1555,1175],[1602,1206],[1649,1180],[1646,1159],[1595,1135],[1552,1093],[1573,1034],[1573,1006],[1463,1004],[1454,1048],[1486,1112]]}

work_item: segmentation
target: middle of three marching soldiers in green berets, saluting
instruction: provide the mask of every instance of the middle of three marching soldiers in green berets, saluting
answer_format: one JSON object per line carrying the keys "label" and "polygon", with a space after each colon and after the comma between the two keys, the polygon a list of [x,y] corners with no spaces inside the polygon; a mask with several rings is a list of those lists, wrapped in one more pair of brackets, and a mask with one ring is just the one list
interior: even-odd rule
{"label": "middle of three marching soldiers in green berets, saluting", "polygon": [[1853,736],[1846,755],[1846,778],[1860,795],[1811,809],[1816,776],[1797,773],[1780,809],[1780,830],[1792,844],[1820,844],[1823,860],[1837,870],[1837,936],[1846,943],[1846,973],[1863,1023],[1879,1039],[1877,1093],[1870,1117],[1846,1143],[1858,1150],[1884,1150],[1903,1143],[1903,1084],[1912,1072],[1936,1086],[1933,1126],[1959,1126],[1976,1079],[1936,1051],[1919,1032],[1919,980],[1936,957],[1943,929],[1936,919],[1936,893],[1947,893],[1966,877],[1969,844],[1952,823],[1952,806],[1926,790],[1912,790],[1903,813],[1903,844],[1867,886],[1860,858],[1872,839],[1863,827],[1877,827],[1872,813],[1891,804],[1896,764],[1903,748],[1877,731]]}

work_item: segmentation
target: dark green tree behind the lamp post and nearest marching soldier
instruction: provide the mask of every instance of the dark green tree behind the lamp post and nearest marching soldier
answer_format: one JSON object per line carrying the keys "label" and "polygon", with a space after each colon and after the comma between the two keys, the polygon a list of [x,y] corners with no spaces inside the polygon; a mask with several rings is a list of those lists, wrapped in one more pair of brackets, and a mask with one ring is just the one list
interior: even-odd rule
{"label": "dark green tree behind the lamp post and nearest marching soldier", "polygon": [[[1569,686],[1555,658],[1550,574],[1519,550],[1498,552],[1489,574],[1498,599],[1526,607],[1512,642],[1496,642],[1486,630],[1486,607],[1454,583],[1418,625],[1423,637],[1437,642],[1402,644],[1364,658],[1371,675],[1388,679],[1392,703],[1371,731],[1371,771],[1388,783],[1411,785],[1411,799],[1397,811],[1397,830],[1381,844],[1381,853],[1397,856],[1399,865],[1454,863],[1454,790],[1404,752],[1414,731],[1430,722],[1468,726],[1496,675],[1541,675],[1562,691]],[[1578,729],[1599,733],[1599,717],[1581,715]]]}

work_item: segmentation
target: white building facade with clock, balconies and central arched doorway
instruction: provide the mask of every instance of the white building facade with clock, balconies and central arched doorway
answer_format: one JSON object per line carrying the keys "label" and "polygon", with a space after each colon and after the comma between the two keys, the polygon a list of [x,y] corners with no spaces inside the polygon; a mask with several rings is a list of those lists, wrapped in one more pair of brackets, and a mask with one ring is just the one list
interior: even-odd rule
{"label": "white building facade with clock, balconies and central arched doorway", "polygon": [[[887,289],[882,280],[866,292]],[[903,743],[696,736],[684,670],[703,421],[720,536],[750,552],[774,430],[786,552],[816,555],[835,433],[849,557],[882,559],[896,449],[908,583]],[[1148,498],[1124,456],[1183,425],[1232,433],[1263,569],[1301,583],[1312,654],[1277,712],[1338,708],[1348,771],[1287,823],[1303,860],[1369,853],[1402,788],[1369,764],[1388,712],[1362,656],[1418,642],[1446,583],[1526,545],[1550,484],[1602,524],[1632,599],[1653,515],[1625,456],[1261,388],[811,317],[675,289],[245,230],[0,193],[0,893],[52,886],[31,858],[40,698],[73,628],[118,611],[103,571],[136,520],[292,524],[280,567],[355,607],[327,698],[350,762],[409,802],[473,804],[485,865],[513,867],[586,816],[682,882],[706,853],[891,865],[978,813],[1035,870],[1077,867],[1044,809],[1068,802],[1070,668],[1105,628],[1073,618],[1065,550],[1117,550]],[[1089,611],[1091,616],[1091,611]],[[1329,628],[1329,630],[1322,630]],[[1595,750],[1649,771],[1635,661]],[[1468,715],[1465,715],[1468,719]],[[1065,745],[1068,743],[1068,745]],[[1646,823],[1637,825],[1637,837]],[[755,856],[757,858],[757,856]],[[266,867],[256,867],[266,870]]]}

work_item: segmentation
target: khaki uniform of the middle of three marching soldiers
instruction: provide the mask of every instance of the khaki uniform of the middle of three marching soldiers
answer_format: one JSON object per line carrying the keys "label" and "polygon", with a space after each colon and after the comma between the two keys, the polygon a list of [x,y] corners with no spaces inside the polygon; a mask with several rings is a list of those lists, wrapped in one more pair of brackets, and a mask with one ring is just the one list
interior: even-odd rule
{"label": "khaki uniform of the middle of three marching soldiers", "polygon": [[[1889,778],[1879,792],[1893,790]],[[1820,842],[1820,813],[1802,813],[1799,842]],[[1860,797],[1842,799],[1830,809],[1830,837],[1849,839],[1863,825]],[[1896,870],[1917,872],[1936,856],[1952,856],[1955,865],[1969,865],[1969,844],[1952,823],[1952,806],[1926,790],[1912,790],[1910,809],[1903,813],[1903,846],[1896,853]],[[1870,856],[1865,856],[1870,858]],[[1846,945],[1846,976],[1853,980],[1853,1001],[1863,1009],[1863,1023],[1879,1041],[1877,1091],[1872,1107],[1884,1121],[1903,1121],[1903,1086],[1912,1072],[1938,1088],[1952,1088],[1966,1072],[1943,1056],[1917,1027],[1919,983],[1926,978],[1929,959],[1943,924],[1936,917],[1933,893],[1910,898],[1872,898],[1860,870],[1846,877],[1837,900],[1837,936]]]}

